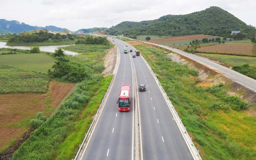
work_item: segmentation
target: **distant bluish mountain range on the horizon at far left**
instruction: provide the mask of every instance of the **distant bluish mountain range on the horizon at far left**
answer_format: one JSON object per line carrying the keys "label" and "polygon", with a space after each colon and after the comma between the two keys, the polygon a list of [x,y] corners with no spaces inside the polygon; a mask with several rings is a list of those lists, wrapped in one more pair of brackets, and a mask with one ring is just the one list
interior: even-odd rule
{"label": "distant bluish mountain range on the horizon at far left", "polygon": [[38,26],[30,26],[25,23],[21,23],[16,20],[6,20],[6,19],[0,19],[0,33],[7,34],[7,33],[20,33],[23,31],[32,31],[32,30],[38,30],[38,29],[48,29],[51,31],[64,31],[68,30],[66,28],[59,28],[55,26],[45,26],[45,27],[38,27]]}

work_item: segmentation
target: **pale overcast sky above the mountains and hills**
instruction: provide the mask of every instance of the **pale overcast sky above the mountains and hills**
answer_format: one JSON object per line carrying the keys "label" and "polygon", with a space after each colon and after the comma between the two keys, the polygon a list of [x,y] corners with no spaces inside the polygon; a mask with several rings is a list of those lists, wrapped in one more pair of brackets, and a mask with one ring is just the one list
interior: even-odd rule
{"label": "pale overcast sky above the mountains and hills", "polygon": [[154,20],[217,6],[256,27],[256,0],[0,0],[0,19],[71,31]]}

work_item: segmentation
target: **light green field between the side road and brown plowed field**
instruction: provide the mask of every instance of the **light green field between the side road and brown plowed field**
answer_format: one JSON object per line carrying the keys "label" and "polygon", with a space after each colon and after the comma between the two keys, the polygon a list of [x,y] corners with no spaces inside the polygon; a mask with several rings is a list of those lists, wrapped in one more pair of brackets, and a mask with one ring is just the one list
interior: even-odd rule
{"label": "light green field between the side road and brown plowed field", "polygon": [[256,57],[204,54],[204,53],[197,53],[197,54],[216,59],[232,67],[242,66],[244,64],[249,64],[252,67],[256,67]]}

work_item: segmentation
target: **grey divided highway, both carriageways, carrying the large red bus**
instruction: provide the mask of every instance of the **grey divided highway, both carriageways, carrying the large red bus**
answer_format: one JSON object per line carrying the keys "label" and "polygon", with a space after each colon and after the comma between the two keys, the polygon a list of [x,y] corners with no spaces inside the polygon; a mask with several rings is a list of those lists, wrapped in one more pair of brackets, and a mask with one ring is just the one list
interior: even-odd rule
{"label": "grey divided highway, both carriageways, carrying the large red bus", "polygon": [[[124,54],[127,43],[114,40],[120,50],[120,65],[80,159],[200,159],[193,155],[191,145],[144,59],[132,58],[135,52],[130,45],[128,51],[133,52]],[[116,103],[122,84],[131,86],[128,112],[118,111]],[[139,92],[139,84],[145,84],[146,91]]]}

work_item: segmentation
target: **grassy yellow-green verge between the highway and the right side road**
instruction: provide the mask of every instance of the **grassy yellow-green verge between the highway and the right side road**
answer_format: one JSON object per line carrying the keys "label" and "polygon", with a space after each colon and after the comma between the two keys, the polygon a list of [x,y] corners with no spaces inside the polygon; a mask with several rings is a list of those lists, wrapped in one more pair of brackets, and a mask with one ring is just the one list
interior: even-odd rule
{"label": "grassy yellow-green verge between the highway and the right side road", "polygon": [[221,86],[196,86],[197,71],[172,62],[164,52],[135,47],[157,74],[203,159],[256,159],[256,121],[243,110],[245,102]]}

